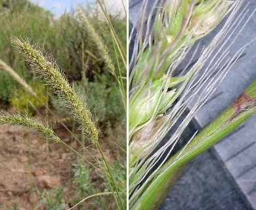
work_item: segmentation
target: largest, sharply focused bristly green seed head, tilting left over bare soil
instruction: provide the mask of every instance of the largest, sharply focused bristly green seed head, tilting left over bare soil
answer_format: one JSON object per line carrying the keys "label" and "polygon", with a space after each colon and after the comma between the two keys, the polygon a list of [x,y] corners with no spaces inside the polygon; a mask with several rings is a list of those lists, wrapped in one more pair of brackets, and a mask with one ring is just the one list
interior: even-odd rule
{"label": "largest, sharply focused bristly green seed head, tilting left over bare soil", "polygon": [[48,85],[51,85],[54,93],[64,100],[64,105],[70,109],[75,119],[79,121],[82,129],[85,131],[85,135],[95,144],[98,139],[98,131],[91,119],[91,114],[85,104],[79,100],[79,97],[68,83],[64,74],[62,74],[58,65],[53,62],[53,58],[45,58],[39,47],[30,45],[28,39],[14,37],[12,38],[12,43],[14,43],[14,47],[20,51],[30,64],[37,67],[37,72],[41,74]]}

